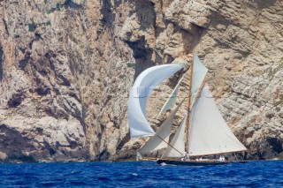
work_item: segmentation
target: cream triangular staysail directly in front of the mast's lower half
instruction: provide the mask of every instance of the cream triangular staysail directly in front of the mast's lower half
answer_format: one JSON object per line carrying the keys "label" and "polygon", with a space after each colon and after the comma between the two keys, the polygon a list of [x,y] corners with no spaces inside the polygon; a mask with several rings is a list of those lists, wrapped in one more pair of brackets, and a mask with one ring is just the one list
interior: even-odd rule
{"label": "cream triangular staysail directly in front of the mast's lower half", "polygon": [[185,153],[185,127],[187,123],[187,115],[181,122],[178,131],[176,132],[175,136],[173,137],[170,145],[166,148],[162,158],[165,157],[182,157]]}

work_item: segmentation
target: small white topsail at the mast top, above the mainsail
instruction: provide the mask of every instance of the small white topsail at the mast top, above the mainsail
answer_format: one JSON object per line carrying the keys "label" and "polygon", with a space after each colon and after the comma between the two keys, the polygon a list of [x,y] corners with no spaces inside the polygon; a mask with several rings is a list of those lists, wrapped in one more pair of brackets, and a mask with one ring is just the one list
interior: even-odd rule
{"label": "small white topsail at the mast top, above the mainsail", "polygon": [[203,79],[208,69],[203,65],[200,58],[195,53],[194,64],[193,64],[193,77],[192,77],[192,86],[191,86],[191,102],[190,108],[193,107],[195,103],[195,97],[200,93],[200,88],[203,84]]}

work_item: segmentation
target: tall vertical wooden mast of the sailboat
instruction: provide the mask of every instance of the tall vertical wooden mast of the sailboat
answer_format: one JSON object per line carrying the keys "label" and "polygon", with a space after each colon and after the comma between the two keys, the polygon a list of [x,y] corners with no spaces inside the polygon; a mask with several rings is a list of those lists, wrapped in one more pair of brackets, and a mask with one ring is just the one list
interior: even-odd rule
{"label": "tall vertical wooden mast of the sailboat", "polygon": [[190,104],[191,104],[191,90],[192,90],[192,79],[193,79],[193,69],[194,69],[194,61],[195,61],[195,50],[193,51],[193,62],[191,64],[191,75],[189,77],[189,86],[188,86],[188,101],[187,101],[187,126],[186,126],[186,144],[185,144],[185,152],[188,154],[188,131],[189,131],[189,112],[190,112]]}

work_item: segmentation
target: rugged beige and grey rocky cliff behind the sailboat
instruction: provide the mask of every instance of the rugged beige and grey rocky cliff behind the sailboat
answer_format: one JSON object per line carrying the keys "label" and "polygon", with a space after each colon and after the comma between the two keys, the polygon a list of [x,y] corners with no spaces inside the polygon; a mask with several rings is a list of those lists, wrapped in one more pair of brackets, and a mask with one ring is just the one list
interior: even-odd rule
{"label": "rugged beige and grey rocky cliff behind the sailboat", "polygon": [[[134,157],[134,79],[155,64],[188,74],[193,50],[247,157],[283,157],[280,0],[0,0],[0,18],[2,162]],[[176,81],[150,99],[153,127]]]}

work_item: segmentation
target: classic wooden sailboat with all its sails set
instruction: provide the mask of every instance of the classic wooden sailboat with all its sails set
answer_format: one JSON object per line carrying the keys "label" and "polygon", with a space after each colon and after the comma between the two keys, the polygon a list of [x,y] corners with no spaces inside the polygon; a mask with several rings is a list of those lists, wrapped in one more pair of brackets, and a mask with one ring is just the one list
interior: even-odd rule
{"label": "classic wooden sailboat with all its sails set", "polygon": [[[175,105],[181,79],[157,117],[174,106],[176,106],[175,109],[172,109],[157,132],[149,124],[146,114],[149,95],[164,79],[168,79],[182,69],[183,65],[180,64],[157,65],[142,71],[134,81],[128,102],[130,135],[131,138],[150,137],[137,151],[137,159],[144,158],[146,154],[161,151],[161,158],[156,160],[159,164],[194,166],[226,164],[230,161],[227,161],[222,155],[244,152],[247,148],[234,136],[221,116],[207,84],[208,69],[197,54],[190,67],[187,113],[184,114],[173,138],[169,140],[173,119],[180,106],[186,101],[183,99],[177,106]],[[211,158],[218,155],[220,155],[219,159]]]}

